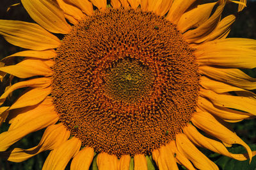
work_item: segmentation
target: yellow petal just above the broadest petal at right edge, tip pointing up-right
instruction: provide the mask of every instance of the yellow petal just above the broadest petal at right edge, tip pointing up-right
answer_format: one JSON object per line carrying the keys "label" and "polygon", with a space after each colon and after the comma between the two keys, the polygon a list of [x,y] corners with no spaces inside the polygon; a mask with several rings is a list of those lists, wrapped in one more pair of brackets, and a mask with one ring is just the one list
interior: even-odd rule
{"label": "yellow petal just above the broadest petal at right edge, tip pointing up-right", "polygon": [[216,29],[212,31],[212,33],[209,35],[209,38],[207,38],[208,41],[217,40],[226,38],[228,36],[228,33],[230,32],[230,27],[235,22],[236,16],[235,15],[228,15],[224,19],[222,19],[219,24],[216,26]]}

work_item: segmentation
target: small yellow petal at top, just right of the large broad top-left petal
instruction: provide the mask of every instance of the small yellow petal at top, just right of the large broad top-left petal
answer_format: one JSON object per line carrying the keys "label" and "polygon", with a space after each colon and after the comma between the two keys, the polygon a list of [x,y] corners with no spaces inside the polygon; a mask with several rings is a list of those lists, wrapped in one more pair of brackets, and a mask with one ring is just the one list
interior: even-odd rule
{"label": "small yellow petal at top, just right of the large broad top-left petal", "polygon": [[82,20],[85,17],[83,12],[76,6],[67,4],[63,0],[56,0],[56,1],[59,4],[61,10],[63,10],[63,12],[66,13],[67,15],[70,15],[77,20]]}

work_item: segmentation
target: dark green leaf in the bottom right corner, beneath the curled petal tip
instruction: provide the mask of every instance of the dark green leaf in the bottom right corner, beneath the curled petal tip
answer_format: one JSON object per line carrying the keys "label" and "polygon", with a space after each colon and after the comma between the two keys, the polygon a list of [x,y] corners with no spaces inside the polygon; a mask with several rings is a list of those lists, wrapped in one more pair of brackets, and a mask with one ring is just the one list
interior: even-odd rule
{"label": "dark green leaf in the bottom right corner, beneath the curled petal tip", "polygon": [[[252,150],[256,150],[256,144],[251,144],[250,148]],[[228,151],[230,151],[231,153],[245,153],[243,146],[228,148]],[[218,156],[216,155],[216,157]],[[228,169],[255,170],[256,169],[256,157],[252,158],[251,164],[249,160],[239,161],[239,160],[235,160],[233,158],[229,158],[225,156],[218,157],[214,162],[220,167],[220,169],[223,169],[223,170],[228,170]]]}

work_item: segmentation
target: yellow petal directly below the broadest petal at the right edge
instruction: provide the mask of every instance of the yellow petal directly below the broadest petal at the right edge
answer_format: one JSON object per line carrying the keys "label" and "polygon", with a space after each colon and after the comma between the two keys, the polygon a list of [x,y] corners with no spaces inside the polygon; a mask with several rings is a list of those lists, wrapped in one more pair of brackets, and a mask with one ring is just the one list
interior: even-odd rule
{"label": "yellow petal directly below the broadest petal at the right edge", "polygon": [[[0,68],[1,69],[1,68]],[[199,71],[212,79],[223,81],[243,89],[256,89],[256,79],[237,68],[199,66]]]}

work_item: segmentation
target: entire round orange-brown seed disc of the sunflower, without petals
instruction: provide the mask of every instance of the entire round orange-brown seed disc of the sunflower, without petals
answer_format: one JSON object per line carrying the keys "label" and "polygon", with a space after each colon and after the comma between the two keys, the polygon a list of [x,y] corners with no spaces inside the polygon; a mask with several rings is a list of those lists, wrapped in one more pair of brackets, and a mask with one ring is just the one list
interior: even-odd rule
{"label": "entire round orange-brown seed disc of the sunflower, without petals", "polygon": [[60,121],[97,152],[151,153],[195,112],[193,49],[164,17],[96,12],[73,26],[57,53],[51,95]]}

